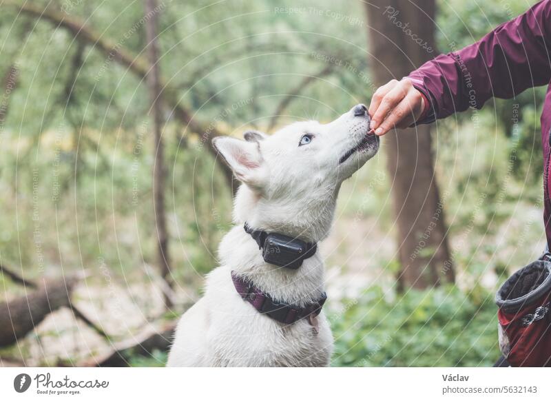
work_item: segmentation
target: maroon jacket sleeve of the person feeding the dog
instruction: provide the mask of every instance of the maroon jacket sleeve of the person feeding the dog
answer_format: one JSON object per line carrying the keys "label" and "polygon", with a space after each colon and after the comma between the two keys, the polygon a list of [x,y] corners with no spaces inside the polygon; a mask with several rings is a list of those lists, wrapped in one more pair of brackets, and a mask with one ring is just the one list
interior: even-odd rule
{"label": "maroon jacket sleeve of the person feeding the dog", "polygon": [[551,79],[551,0],[499,25],[477,43],[441,54],[408,76],[430,105],[418,123],[430,123],[490,97],[509,99]]}

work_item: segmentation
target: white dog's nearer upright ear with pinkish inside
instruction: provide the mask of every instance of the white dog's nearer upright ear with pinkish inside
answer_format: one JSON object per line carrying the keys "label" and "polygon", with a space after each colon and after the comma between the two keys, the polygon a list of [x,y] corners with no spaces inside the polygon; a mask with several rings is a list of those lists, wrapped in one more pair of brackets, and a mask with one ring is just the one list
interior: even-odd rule
{"label": "white dog's nearer upright ear with pinkish inside", "polygon": [[257,141],[245,142],[230,136],[217,136],[212,144],[239,181],[251,189],[262,191],[267,181],[267,167]]}

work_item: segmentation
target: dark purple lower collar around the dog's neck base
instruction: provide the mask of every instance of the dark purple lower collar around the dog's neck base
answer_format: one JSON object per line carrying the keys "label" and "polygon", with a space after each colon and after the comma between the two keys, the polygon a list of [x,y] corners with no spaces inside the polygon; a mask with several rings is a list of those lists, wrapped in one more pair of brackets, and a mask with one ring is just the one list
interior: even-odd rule
{"label": "dark purple lower collar around the dog's neck base", "polygon": [[318,300],[304,307],[298,307],[273,300],[269,294],[264,294],[253,282],[238,276],[235,271],[231,271],[231,280],[233,280],[233,286],[236,287],[236,291],[243,300],[253,305],[254,309],[260,313],[265,313],[273,320],[286,325],[291,325],[300,319],[309,318],[310,316],[315,318],[322,311],[323,304],[327,299],[326,294],[322,293],[322,296]]}

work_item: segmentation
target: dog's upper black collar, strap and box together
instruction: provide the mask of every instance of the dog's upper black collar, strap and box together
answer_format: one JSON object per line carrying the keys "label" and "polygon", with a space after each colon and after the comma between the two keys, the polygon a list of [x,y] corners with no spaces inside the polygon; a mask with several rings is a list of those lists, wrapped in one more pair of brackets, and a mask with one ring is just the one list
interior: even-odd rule
{"label": "dog's upper black collar, strap and box together", "polygon": [[298,269],[304,259],[310,258],[318,249],[316,243],[306,243],[298,238],[278,233],[268,233],[260,229],[253,229],[245,223],[245,232],[249,234],[262,249],[264,262],[272,265]]}

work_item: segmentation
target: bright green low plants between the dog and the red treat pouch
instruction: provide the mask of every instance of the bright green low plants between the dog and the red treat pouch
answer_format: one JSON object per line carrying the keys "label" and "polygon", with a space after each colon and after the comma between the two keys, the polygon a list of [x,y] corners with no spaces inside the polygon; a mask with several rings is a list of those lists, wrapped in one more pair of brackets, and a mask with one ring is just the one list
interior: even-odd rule
{"label": "bright green low plants between the dog and the red treat pouch", "polygon": [[329,313],[333,366],[490,366],[499,357],[493,296],[457,287],[402,296],[368,289]]}

